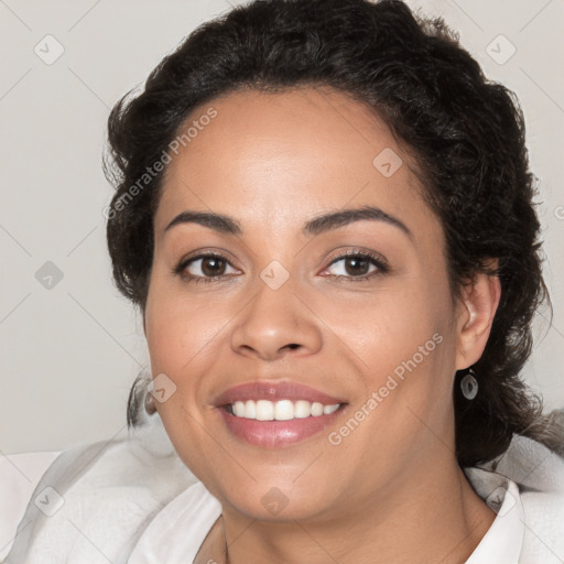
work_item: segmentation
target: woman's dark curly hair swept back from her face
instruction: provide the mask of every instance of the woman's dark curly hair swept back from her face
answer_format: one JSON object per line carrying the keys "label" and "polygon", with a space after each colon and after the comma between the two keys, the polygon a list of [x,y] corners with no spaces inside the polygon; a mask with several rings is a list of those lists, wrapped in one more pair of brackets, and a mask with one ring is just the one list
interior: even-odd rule
{"label": "woman's dark curly hair swept back from her face", "polygon": [[229,91],[301,86],[333,87],[370,105],[414,156],[444,228],[453,299],[479,272],[500,279],[490,337],[473,367],[476,399],[460,393],[466,371],[455,379],[458,464],[492,460],[513,434],[562,453],[562,434],[519,377],[532,316],[550,305],[519,102],[486,79],[442,19],[414,15],[399,0],[254,0],[202,24],[141,94],[117,102],[105,167],[117,187],[107,239],[118,289],[144,314],[163,172],[143,175],[167,154],[188,113]]}

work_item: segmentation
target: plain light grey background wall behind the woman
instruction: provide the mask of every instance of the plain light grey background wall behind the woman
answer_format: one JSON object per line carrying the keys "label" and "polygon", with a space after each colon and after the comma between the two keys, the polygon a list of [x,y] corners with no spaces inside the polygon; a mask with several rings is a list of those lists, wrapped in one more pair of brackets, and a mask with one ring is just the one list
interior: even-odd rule
{"label": "plain light grey background wall behind the woman", "polygon": [[[524,109],[554,304],[552,327],[545,313],[536,318],[527,379],[547,409],[564,406],[564,2],[410,4],[444,15]],[[197,24],[228,9],[227,0],[0,0],[0,453],[126,433],[129,388],[149,357],[141,321],[110,276],[106,120]],[[57,44],[64,53],[51,62]]]}

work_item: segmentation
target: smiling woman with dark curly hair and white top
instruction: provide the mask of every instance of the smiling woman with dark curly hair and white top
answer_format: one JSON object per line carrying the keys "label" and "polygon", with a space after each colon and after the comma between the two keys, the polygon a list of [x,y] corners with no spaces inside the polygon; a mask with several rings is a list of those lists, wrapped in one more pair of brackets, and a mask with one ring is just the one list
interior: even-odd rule
{"label": "smiling woman with dark curly hair and white top", "polygon": [[563,561],[562,429],[520,379],[546,293],[523,118],[442,21],[254,1],[109,143],[152,381],[137,437],[47,470],[67,513],[30,505],[7,562]]}

